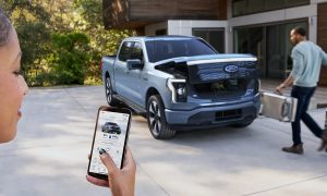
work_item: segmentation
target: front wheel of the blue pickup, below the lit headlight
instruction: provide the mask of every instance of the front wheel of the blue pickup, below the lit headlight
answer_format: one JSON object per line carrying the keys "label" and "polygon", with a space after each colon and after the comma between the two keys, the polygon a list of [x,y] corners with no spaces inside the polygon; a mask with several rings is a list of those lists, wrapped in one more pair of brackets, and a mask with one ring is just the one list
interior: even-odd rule
{"label": "front wheel of the blue pickup, below the lit headlight", "polygon": [[147,125],[156,139],[171,138],[175,131],[170,130],[165,117],[165,106],[160,96],[153,95],[146,105]]}

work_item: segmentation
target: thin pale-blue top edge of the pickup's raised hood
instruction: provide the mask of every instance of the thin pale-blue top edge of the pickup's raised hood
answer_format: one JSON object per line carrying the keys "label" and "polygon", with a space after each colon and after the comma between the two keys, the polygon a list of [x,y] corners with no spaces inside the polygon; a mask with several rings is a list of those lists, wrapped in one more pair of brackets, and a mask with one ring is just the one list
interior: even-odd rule
{"label": "thin pale-blue top edge of the pickup's raised hood", "polygon": [[164,61],[158,61],[154,63],[154,66],[165,65],[165,64],[184,64],[194,65],[194,64],[208,64],[208,63],[219,63],[219,62],[240,62],[240,61],[257,61],[257,58],[252,54],[235,54],[235,53],[226,53],[226,54],[211,54],[211,56],[194,56],[194,57],[180,57],[166,59]]}

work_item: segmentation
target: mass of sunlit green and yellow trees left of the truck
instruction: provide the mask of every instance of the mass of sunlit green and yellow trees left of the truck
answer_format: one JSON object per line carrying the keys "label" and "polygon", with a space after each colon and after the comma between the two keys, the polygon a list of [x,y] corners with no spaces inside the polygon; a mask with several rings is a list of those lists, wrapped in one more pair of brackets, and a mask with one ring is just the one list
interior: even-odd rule
{"label": "mass of sunlit green and yellow trees left of the truck", "polygon": [[[0,0],[0,3],[17,30],[22,68],[32,86],[83,84],[81,79],[84,84],[100,83],[101,57],[113,54],[121,39],[131,35],[130,30],[105,29],[101,0]],[[66,39],[74,42],[72,48],[63,45]]]}

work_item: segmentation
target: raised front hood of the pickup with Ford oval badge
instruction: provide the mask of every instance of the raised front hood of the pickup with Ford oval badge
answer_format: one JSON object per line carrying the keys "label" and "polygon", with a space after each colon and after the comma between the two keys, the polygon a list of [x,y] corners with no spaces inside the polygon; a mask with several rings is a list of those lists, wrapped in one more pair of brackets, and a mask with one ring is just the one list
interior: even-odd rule
{"label": "raised front hood of the pickup with Ford oval badge", "polygon": [[257,58],[252,54],[214,54],[167,59],[154,68],[189,83],[208,83],[257,77],[256,65]]}

